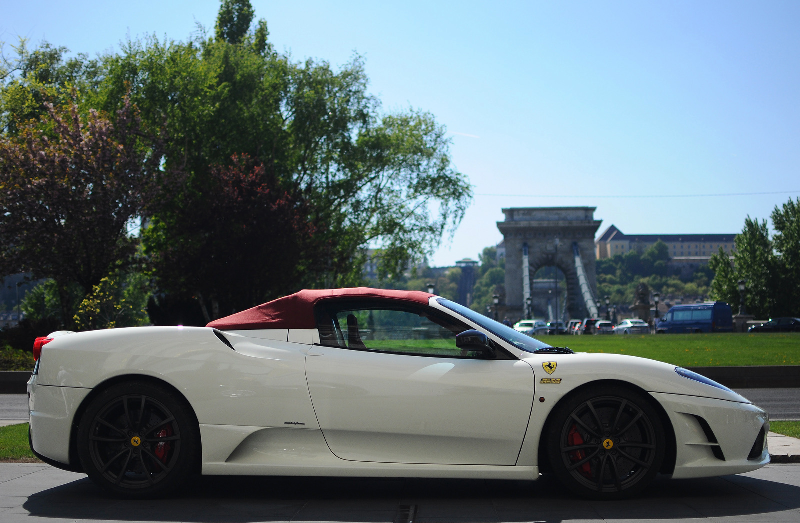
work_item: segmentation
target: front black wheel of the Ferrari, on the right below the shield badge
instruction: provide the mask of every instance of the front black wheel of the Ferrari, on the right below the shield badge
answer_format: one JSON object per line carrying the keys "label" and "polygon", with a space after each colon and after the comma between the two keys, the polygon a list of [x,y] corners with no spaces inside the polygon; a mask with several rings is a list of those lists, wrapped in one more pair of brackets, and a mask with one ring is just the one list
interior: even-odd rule
{"label": "front black wheel of the Ferrari, on the right below the shield badge", "polygon": [[554,409],[545,437],[558,480],[593,499],[641,492],[666,450],[661,417],[644,394],[622,385],[590,386],[567,397]]}

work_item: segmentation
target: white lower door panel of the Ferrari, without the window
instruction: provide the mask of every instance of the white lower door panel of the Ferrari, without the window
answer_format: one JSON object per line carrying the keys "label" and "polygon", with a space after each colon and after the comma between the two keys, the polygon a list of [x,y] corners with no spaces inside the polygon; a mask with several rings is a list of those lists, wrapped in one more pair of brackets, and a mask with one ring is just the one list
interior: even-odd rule
{"label": "white lower door panel of the Ferrari, without the window", "polygon": [[516,463],[535,386],[524,361],[317,349],[306,374],[322,433],[338,457]]}

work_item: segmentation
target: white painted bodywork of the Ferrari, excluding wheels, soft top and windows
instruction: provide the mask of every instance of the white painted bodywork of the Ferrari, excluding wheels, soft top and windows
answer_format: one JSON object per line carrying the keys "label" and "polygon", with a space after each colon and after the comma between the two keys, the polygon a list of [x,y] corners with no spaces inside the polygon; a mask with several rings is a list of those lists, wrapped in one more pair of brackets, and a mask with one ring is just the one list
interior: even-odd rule
{"label": "white painted bodywork of the Ferrari, excluding wheels, soft top and windows", "polygon": [[[194,409],[204,473],[536,479],[554,405],[581,385],[617,380],[648,391],[670,417],[675,477],[739,473],[769,460],[766,449],[746,459],[768,419],[737,393],[645,358],[526,353],[435,300],[430,305],[517,359],[335,349],[314,345],[317,329],[230,331],[234,349],[204,327],[64,334],[43,347],[30,381],[34,449],[68,462],[70,427],[91,390],[144,375],[174,386]],[[554,373],[544,372],[546,361],[558,364]],[[726,461],[698,444],[691,413],[709,421]]]}

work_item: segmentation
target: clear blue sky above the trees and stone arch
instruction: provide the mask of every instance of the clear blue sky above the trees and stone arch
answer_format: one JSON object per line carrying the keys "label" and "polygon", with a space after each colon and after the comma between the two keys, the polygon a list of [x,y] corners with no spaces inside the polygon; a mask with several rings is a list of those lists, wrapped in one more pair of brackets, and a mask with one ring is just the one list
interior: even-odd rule
{"label": "clear blue sky above the trees and stone arch", "polygon": [[[218,5],[0,0],[0,40],[98,54],[213,28]],[[596,206],[598,233],[734,233],[800,196],[800,2],[253,6],[278,50],[358,52],[385,110],[452,133],[476,197],[434,265],[498,242],[502,207]]]}

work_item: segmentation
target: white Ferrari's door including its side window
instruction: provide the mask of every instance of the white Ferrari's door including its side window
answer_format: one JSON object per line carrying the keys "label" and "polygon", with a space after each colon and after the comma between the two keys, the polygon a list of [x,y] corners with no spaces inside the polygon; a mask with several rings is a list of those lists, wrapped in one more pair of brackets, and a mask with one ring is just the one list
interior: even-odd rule
{"label": "white Ferrari's door including its side window", "polygon": [[318,314],[323,344],[306,358],[331,451],[355,461],[514,465],[534,372],[498,348],[455,346],[467,329],[420,306],[338,302]]}

